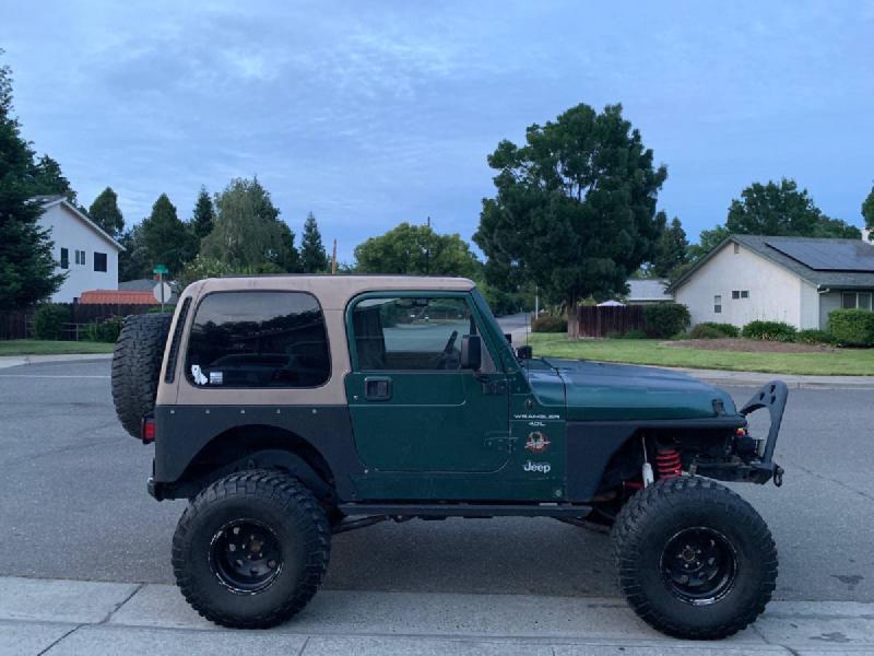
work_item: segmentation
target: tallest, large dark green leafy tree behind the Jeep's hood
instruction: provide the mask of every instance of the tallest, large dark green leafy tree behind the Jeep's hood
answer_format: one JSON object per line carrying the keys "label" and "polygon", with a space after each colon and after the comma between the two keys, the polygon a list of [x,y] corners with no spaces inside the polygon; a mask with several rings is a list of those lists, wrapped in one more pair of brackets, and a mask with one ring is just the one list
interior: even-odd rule
{"label": "tallest, large dark green leafy tree behind the Jeep's hood", "polygon": [[579,298],[625,293],[627,278],[651,259],[668,172],[653,166],[621,105],[599,114],[580,104],[532,125],[523,147],[501,141],[488,165],[498,172],[497,195],[483,200],[473,237],[488,258],[488,282],[533,282],[574,312]]}

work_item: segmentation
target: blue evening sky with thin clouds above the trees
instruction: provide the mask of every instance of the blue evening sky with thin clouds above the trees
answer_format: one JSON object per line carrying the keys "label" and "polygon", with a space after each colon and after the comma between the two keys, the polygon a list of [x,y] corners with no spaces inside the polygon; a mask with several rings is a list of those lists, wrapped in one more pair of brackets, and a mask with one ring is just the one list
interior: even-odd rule
{"label": "blue evening sky with thin clouds above the trees", "polygon": [[861,225],[874,179],[873,2],[0,0],[0,16],[25,136],[81,201],[116,189],[129,224],[162,192],[188,218],[201,185],[257,174],[342,260],[428,215],[470,238],[486,155],[580,102],[624,105],[690,237],[781,176]]}

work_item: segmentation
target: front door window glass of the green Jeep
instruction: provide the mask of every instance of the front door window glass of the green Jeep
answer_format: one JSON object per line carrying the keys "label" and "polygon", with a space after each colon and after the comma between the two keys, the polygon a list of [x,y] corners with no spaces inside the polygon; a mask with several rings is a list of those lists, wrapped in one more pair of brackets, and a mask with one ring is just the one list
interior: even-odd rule
{"label": "front door window glass of the green Jeep", "polygon": [[352,311],[358,370],[454,371],[475,332],[463,298],[367,298]]}

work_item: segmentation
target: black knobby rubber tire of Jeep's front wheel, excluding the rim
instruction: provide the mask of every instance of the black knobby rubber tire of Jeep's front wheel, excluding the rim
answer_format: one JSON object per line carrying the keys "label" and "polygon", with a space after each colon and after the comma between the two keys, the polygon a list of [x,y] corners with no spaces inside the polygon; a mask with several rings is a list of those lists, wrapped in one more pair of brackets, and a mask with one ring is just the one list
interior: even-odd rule
{"label": "black knobby rubber tire of Jeep's front wheel, excluding the rim", "polygon": [[[712,535],[724,537],[734,550],[733,583],[709,602],[683,599],[664,573],[668,546],[693,527],[716,531]],[[668,635],[732,635],[765,610],[773,593],[777,548],[765,520],[746,501],[711,480],[677,477],[647,487],[619,512],[611,537],[628,605]]]}

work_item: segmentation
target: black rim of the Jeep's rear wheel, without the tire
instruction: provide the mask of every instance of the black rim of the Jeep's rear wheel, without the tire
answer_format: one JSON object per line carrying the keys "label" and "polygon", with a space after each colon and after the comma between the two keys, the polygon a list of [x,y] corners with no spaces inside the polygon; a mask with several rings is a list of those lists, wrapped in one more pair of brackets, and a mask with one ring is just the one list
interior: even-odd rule
{"label": "black rim of the Jeep's rear wheel, without the tire", "polygon": [[272,585],[282,571],[282,549],[273,530],[256,519],[235,519],[210,542],[210,569],[226,588],[255,595]]}

